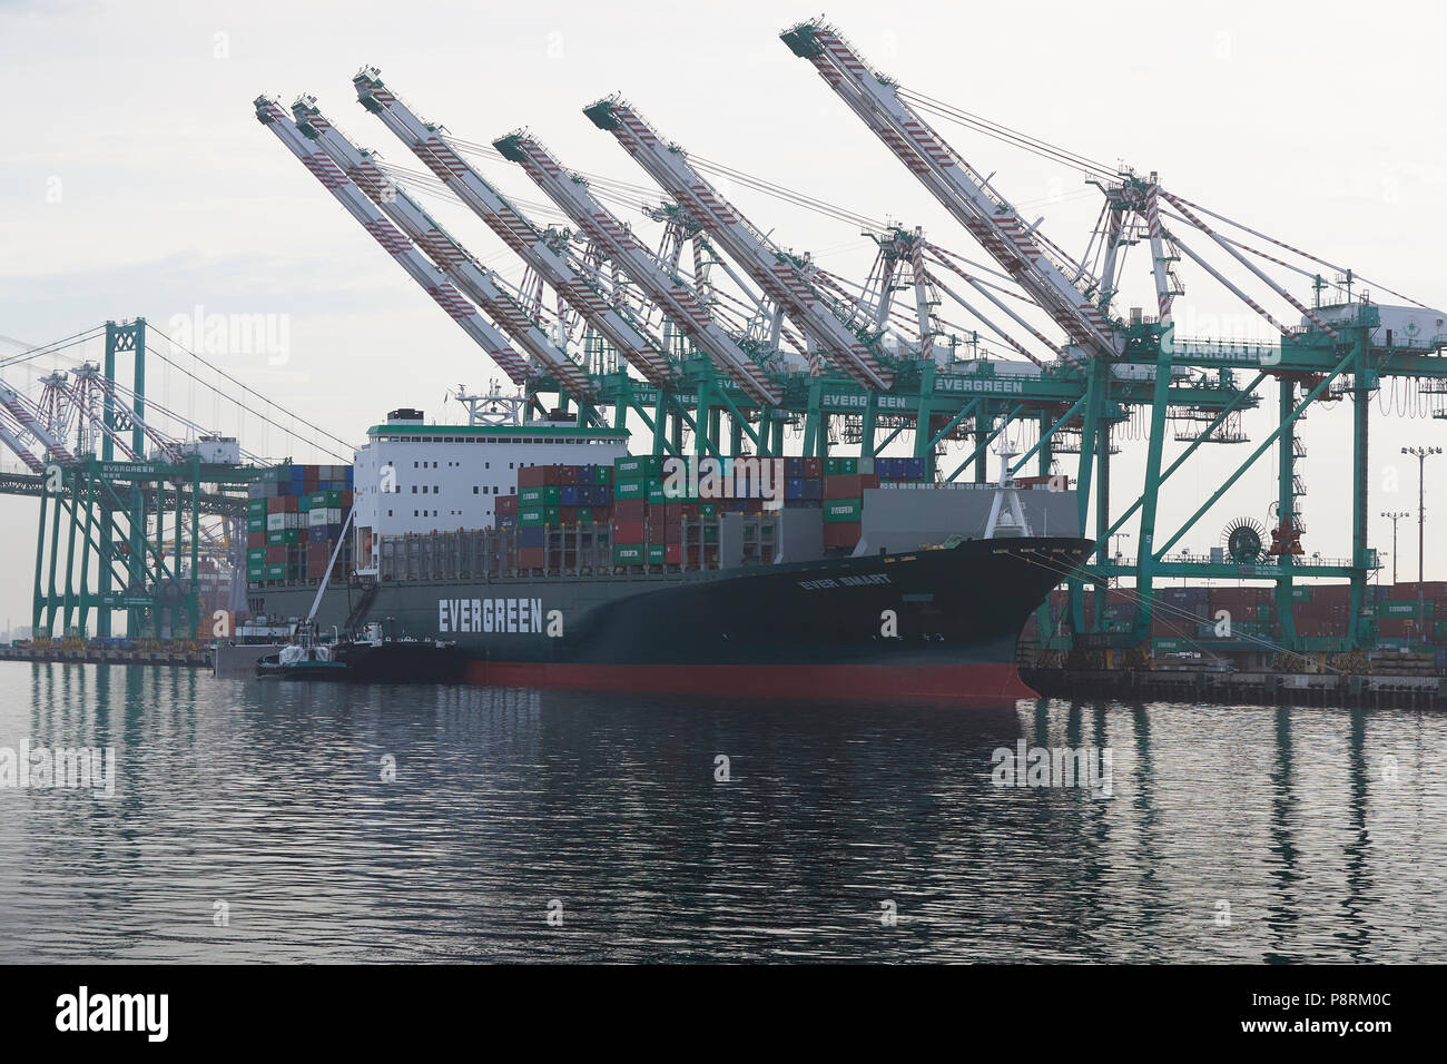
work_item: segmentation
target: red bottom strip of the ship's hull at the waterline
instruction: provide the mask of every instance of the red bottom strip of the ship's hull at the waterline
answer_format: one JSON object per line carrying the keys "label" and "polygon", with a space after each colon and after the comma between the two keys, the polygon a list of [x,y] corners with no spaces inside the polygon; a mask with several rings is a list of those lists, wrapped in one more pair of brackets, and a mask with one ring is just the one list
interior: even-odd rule
{"label": "red bottom strip of the ship's hull at the waterline", "polygon": [[1036,698],[1014,664],[559,664],[469,662],[467,683],[739,698],[929,701],[1001,706]]}

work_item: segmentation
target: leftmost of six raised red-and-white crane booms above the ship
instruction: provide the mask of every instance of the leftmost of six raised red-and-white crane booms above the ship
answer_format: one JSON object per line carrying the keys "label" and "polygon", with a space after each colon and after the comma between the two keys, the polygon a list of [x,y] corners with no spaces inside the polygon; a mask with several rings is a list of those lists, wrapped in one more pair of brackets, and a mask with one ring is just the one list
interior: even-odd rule
{"label": "leftmost of six raised red-and-white crane booms above the ship", "polygon": [[441,271],[433,266],[412,242],[382,216],[337,164],[320,149],[313,149],[311,140],[302,135],[297,123],[281,109],[281,104],[265,96],[256,97],[256,120],[271,129],[291,149],[292,155],[301,159],[301,164],[336,197],[337,203],[346,207],[347,213],[362,223],[362,227],[382,245],[396,263],[447,311],[447,316],[492,356],[492,360],[514,384],[521,385],[527,381],[528,363],[512,349],[506,337],[483,320],[478,308],[453,288]]}

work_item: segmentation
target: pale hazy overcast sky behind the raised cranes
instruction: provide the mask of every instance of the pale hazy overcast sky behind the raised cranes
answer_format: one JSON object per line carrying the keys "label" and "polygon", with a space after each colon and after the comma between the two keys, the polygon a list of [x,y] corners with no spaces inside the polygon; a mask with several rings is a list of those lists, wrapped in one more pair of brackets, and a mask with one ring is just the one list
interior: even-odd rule
{"label": "pale hazy overcast sky behind the raised cranes", "polygon": [[[1434,305],[1447,304],[1447,138],[1434,4],[854,3],[825,12],[901,83],[1091,158],[1159,171],[1162,184],[1273,236],[1350,265]],[[197,307],[272,314],[287,352],[223,352],[250,387],[357,442],[395,405],[456,415],[460,382],[498,373],[253,116],[273,93],[317,94],[355,140],[415,168],[356,103],[350,78],[381,67],[423,117],[491,142],[528,124],[566,165],[637,184],[647,177],[579,109],[614,90],[667,138],[709,159],[870,217],[923,224],[983,258],[778,30],[818,14],[792,3],[25,3],[0,0],[6,130],[0,165],[0,334],[54,340],[145,316],[166,327]],[[1079,253],[1098,198],[1078,174],[942,126],[1043,232]],[[489,178],[541,200],[504,164]],[[737,203],[781,243],[862,279],[873,245],[857,229],[747,188]],[[425,198],[425,197],[424,197]],[[521,263],[464,210],[427,200],[479,258],[511,278]],[[551,217],[543,220],[551,221]],[[644,229],[644,226],[640,226]],[[1200,242],[1198,242],[1200,243]],[[1146,284],[1145,255],[1134,282]],[[1240,304],[1182,269],[1181,332],[1262,334]],[[1307,292],[1301,291],[1305,297]],[[1391,301],[1383,298],[1383,301]],[[1273,313],[1295,316],[1279,301]],[[0,358],[17,347],[0,342]],[[98,346],[67,359],[98,358]],[[48,368],[48,366],[43,366]],[[6,371],[16,387],[26,372]],[[158,398],[234,431],[181,378]],[[1266,405],[1273,405],[1273,392]],[[1383,402],[1386,398],[1383,397]],[[1349,549],[1346,402],[1304,426],[1307,550]],[[230,420],[227,420],[230,418]],[[1247,421],[1257,437],[1262,417]],[[256,452],[310,459],[275,431]],[[1447,444],[1447,421],[1373,423],[1376,514],[1415,507],[1404,443]],[[1119,456],[1117,508],[1139,484],[1139,444]],[[1172,482],[1166,520],[1189,514],[1243,447],[1217,447]],[[1447,473],[1437,459],[1428,499]],[[13,462],[0,462],[13,468]],[[1431,468],[1431,465],[1428,466]],[[1265,456],[1187,544],[1205,549],[1239,515],[1265,520]],[[1074,469],[1071,469],[1074,472]],[[1392,478],[1399,489],[1388,491]],[[1447,514],[1444,514],[1447,518]],[[35,504],[0,499],[17,565],[0,570],[0,622],[25,622]],[[1437,525],[1440,530],[1447,525]],[[1405,525],[1404,525],[1405,533]],[[1133,540],[1132,540],[1133,544]],[[1404,573],[1415,575],[1404,543]],[[1447,562],[1428,559],[1428,578]]]}

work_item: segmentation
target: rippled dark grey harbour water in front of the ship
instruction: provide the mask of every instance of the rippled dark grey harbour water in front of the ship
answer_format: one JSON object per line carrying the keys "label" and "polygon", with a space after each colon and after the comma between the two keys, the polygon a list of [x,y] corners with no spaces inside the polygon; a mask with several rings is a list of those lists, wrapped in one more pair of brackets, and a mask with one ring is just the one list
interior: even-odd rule
{"label": "rippled dark grey harbour water in front of the ship", "polygon": [[[117,760],[111,799],[0,793],[7,961],[1447,960],[1441,717],[98,666],[0,698],[0,747]],[[1033,748],[1108,751],[1110,796],[991,780]]]}

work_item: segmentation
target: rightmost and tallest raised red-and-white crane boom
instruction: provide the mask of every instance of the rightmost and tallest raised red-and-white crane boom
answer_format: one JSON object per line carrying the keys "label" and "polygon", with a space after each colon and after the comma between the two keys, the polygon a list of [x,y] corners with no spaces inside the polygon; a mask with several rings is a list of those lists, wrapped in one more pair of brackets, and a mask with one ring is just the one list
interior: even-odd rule
{"label": "rightmost and tallest raised red-and-white crane boom", "polygon": [[[899,156],[959,224],[1029,297],[1091,355],[1116,355],[1121,342],[1100,307],[1071,284],[1065,269],[988,181],[983,178],[899,90],[877,74],[823,22],[802,22],[780,38],[809,59],[825,84]],[[1039,223],[1036,223],[1039,224]],[[1066,360],[1074,362],[1068,353]]]}

